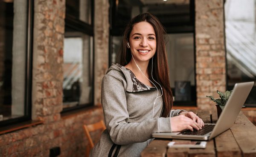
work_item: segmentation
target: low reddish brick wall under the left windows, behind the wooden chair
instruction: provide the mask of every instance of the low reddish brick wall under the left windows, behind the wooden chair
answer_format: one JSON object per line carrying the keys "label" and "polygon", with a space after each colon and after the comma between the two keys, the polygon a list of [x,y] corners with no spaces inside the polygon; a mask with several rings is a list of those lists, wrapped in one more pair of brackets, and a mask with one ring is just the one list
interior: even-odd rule
{"label": "low reddish brick wall under the left windows, behind the wooden chair", "polygon": [[[1,157],[49,157],[49,149],[60,147],[60,157],[84,157],[87,138],[83,124],[102,119],[101,108],[91,109],[52,123],[22,129],[0,136]],[[98,132],[97,132],[98,133]],[[94,140],[98,134],[92,134]]]}

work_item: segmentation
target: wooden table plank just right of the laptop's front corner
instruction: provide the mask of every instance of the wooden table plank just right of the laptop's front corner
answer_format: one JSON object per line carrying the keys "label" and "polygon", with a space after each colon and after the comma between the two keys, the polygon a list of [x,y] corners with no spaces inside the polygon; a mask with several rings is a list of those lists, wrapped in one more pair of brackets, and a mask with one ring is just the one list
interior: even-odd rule
{"label": "wooden table plank just right of the laptop's front corner", "polygon": [[242,157],[230,129],[215,137],[215,146],[218,157]]}

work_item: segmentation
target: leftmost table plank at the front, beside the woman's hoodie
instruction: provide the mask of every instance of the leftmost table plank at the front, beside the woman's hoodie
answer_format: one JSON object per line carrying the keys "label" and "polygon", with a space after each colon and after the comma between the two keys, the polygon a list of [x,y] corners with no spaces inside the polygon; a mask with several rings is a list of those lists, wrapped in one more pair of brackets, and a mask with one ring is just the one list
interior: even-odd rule
{"label": "leftmost table plank at the front, beside the woman's hoodie", "polygon": [[141,157],[166,157],[167,144],[172,140],[153,140],[140,154]]}

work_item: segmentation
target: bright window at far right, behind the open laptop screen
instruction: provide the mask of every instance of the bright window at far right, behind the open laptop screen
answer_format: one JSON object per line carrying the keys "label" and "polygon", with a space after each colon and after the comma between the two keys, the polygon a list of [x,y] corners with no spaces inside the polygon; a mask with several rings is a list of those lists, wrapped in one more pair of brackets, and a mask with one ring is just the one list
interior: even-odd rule
{"label": "bright window at far right, behind the open laptop screen", "polygon": [[[226,0],[224,7],[227,89],[231,90],[238,82],[256,82],[256,0]],[[256,83],[245,105],[256,107]]]}

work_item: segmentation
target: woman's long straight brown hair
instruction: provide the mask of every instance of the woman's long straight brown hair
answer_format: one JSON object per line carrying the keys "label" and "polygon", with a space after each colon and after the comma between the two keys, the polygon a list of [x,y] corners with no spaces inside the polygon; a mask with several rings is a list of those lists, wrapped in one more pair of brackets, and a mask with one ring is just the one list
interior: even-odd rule
{"label": "woman's long straight brown hair", "polygon": [[[166,55],[166,47],[165,47],[165,34],[166,31],[157,17],[153,16],[150,13],[139,14],[136,17],[132,18],[131,21],[125,28],[123,34],[123,40],[121,44],[121,48],[119,50],[119,54],[117,55],[117,63],[122,66],[127,65],[131,60],[131,50],[127,48],[127,42],[129,41],[129,37],[133,26],[136,23],[140,23],[142,21],[146,21],[153,26],[156,38],[157,38],[157,50],[154,54],[153,60],[153,77],[154,79],[162,86],[163,88],[163,113],[162,117],[167,117],[169,112],[172,109],[172,90],[169,82],[169,68],[167,62]],[[152,58],[148,63],[148,74],[151,74],[151,63]],[[153,82],[151,75],[149,75],[149,79]],[[159,87],[159,86],[158,86]]]}

